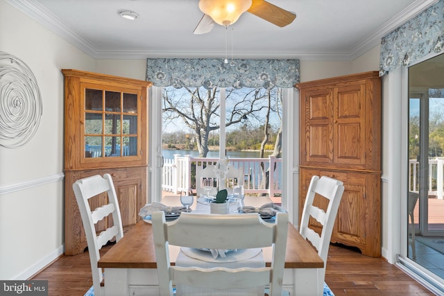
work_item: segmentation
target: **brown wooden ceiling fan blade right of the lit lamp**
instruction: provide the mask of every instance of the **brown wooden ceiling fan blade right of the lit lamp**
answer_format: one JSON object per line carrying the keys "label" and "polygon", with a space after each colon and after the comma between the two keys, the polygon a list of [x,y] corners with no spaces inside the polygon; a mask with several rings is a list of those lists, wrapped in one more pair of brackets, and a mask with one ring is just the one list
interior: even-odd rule
{"label": "brown wooden ceiling fan blade right of the lit lamp", "polygon": [[296,19],[294,12],[284,10],[264,0],[253,0],[248,12],[280,27],[287,26]]}

